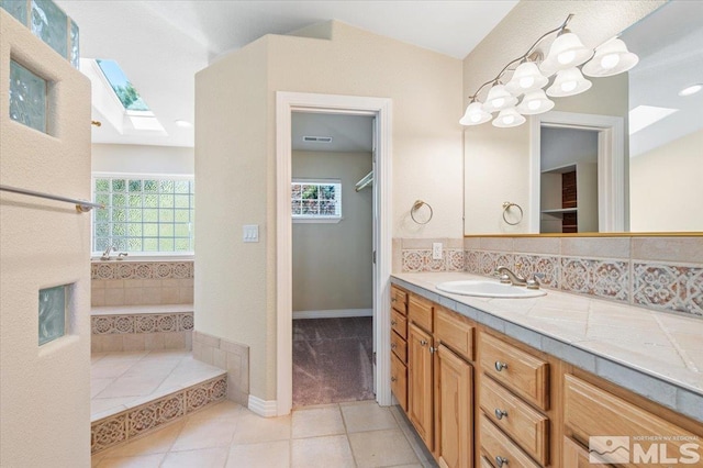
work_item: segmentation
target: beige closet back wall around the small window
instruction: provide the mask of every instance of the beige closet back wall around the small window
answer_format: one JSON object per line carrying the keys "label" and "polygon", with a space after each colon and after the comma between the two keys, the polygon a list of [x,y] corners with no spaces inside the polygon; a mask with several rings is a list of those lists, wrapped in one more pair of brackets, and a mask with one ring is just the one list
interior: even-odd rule
{"label": "beige closet back wall around the small window", "polygon": [[293,313],[372,309],[373,207],[370,153],[293,152],[293,178],[342,181],[342,221],[293,223]]}

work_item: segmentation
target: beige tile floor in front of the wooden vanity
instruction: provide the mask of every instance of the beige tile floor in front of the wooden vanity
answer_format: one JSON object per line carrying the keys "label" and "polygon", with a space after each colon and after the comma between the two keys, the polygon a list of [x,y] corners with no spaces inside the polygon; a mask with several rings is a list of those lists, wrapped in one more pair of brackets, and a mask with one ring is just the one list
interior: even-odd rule
{"label": "beige tile floor in front of the wooden vanity", "polygon": [[436,467],[398,406],[373,401],[260,417],[223,401],[126,445],[92,467]]}

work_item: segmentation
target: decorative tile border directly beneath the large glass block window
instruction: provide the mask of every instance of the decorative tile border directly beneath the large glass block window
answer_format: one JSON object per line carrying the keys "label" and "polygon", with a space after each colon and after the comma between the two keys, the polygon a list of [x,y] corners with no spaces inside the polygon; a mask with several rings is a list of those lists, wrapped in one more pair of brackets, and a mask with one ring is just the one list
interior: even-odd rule
{"label": "decorative tile border directly beneath the large glass block window", "polygon": [[193,261],[93,261],[91,279],[187,279],[193,277]]}

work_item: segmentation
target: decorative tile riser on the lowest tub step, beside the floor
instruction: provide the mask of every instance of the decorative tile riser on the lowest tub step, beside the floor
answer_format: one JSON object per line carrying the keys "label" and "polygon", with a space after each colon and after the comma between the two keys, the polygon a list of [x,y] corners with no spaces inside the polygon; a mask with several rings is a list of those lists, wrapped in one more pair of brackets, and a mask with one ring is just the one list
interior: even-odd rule
{"label": "decorative tile riser on the lowest tub step, beside the floor", "polygon": [[227,394],[227,377],[220,376],[158,400],[103,417],[90,425],[90,453],[129,442],[182,417]]}

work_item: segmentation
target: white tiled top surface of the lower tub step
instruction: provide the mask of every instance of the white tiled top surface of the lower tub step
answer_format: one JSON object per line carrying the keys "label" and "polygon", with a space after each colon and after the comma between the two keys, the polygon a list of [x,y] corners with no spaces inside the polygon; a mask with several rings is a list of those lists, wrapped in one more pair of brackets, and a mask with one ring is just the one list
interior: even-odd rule
{"label": "white tiled top surface of the lower tub step", "polygon": [[91,420],[209,380],[224,371],[193,359],[189,350],[93,353],[90,365]]}

